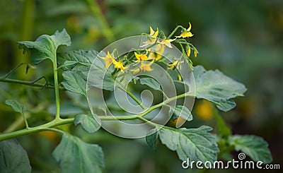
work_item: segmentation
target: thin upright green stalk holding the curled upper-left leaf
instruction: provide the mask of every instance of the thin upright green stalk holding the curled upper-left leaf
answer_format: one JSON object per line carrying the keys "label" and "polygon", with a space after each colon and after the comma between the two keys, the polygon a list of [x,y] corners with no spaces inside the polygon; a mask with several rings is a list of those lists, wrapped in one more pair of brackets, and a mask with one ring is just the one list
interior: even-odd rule
{"label": "thin upright green stalk holding the curled upper-left leaf", "polygon": [[57,54],[54,51],[53,73],[54,73],[54,87],[55,87],[55,100],[56,100],[56,116],[55,119],[60,119],[60,100],[59,100],[59,83],[57,74]]}

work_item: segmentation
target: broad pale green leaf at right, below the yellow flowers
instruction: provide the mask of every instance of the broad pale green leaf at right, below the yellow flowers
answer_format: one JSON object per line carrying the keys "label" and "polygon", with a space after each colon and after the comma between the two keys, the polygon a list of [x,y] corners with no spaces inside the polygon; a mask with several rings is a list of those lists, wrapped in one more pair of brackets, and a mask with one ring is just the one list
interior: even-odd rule
{"label": "broad pale green leaf at right, below the yellow flowers", "polygon": [[222,111],[233,109],[236,103],[231,99],[243,96],[247,90],[245,85],[225,76],[218,70],[206,71],[202,66],[196,66],[193,74],[196,87],[195,97],[214,102],[216,107]]}

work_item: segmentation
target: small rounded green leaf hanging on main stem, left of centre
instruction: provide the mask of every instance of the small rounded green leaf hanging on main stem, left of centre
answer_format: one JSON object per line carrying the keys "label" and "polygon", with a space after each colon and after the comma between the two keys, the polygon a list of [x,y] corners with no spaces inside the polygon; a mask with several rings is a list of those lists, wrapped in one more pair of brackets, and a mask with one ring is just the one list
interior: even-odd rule
{"label": "small rounded green leaf hanging on main stem, left of centre", "polygon": [[81,124],[83,129],[88,133],[94,133],[100,129],[101,121],[96,115],[92,114],[79,114],[74,119],[74,124],[77,126]]}

